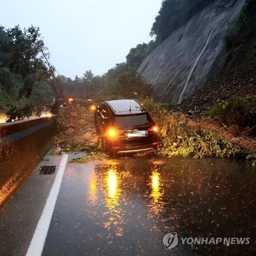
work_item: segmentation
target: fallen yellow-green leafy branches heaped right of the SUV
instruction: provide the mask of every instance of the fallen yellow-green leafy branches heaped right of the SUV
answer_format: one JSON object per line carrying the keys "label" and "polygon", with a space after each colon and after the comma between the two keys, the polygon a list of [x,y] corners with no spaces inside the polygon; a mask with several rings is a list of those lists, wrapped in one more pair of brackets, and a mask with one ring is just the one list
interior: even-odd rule
{"label": "fallen yellow-green leafy branches heaped right of the SUV", "polygon": [[183,125],[183,114],[170,114],[152,98],[142,100],[143,106],[151,113],[160,128],[160,153],[165,156],[181,157],[242,157],[242,150],[225,141],[217,133],[203,132]]}

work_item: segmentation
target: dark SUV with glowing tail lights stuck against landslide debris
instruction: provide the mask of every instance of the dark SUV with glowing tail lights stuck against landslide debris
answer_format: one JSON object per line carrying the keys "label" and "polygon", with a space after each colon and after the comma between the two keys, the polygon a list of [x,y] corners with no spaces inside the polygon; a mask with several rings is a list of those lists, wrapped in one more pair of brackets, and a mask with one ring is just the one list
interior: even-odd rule
{"label": "dark SUV with glowing tail lights stuck against landslide debris", "polygon": [[158,127],[135,99],[105,101],[97,107],[94,118],[103,149],[111,155],[157,147]]}

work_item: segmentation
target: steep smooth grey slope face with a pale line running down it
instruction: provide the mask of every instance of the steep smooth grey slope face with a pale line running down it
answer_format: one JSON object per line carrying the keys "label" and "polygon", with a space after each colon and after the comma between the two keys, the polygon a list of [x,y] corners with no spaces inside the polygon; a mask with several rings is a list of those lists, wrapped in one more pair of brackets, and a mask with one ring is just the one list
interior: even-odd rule
{"label": "steep smooth grey slope face with a pale line running down it", "polygon": [[225,39],[244,4],[245,0],[215,1],[143,60],[138,72],[153,85],[158,100],[181,102],[221,73]]}

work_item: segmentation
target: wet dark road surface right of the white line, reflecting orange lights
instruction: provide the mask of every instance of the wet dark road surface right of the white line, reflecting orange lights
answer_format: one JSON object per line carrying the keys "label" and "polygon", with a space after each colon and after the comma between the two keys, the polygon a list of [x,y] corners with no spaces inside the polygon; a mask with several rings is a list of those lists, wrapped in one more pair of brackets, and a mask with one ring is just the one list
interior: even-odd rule
{"label": "wet dark road surface right of the white line, reflecting orange lights", "polygon": [[[240,161],[119,158],[69,163],[43,255],[245,255],[255,246],[255,172]],[[250,245],[164,249],[179,237],[250,237]],[[254,237],[253,237],[254,236]]]}

